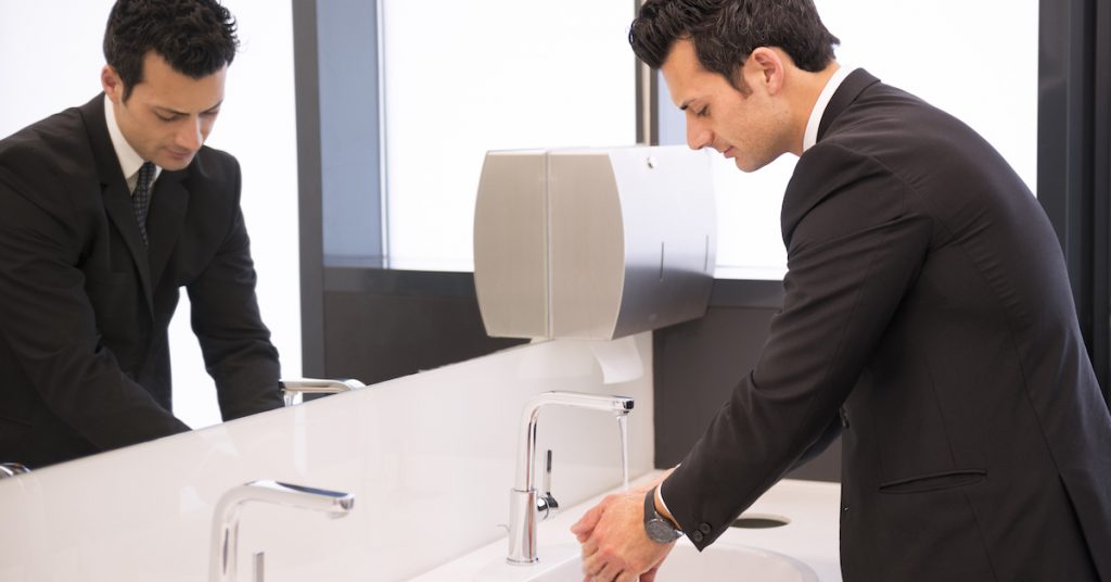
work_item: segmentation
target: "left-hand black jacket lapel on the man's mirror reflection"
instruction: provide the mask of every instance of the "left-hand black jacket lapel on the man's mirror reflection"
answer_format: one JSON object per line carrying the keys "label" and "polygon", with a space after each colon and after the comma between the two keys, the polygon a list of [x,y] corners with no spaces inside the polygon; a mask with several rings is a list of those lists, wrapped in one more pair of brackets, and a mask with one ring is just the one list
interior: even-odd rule
{"label": "left-hand black jacket lapel on the man's mirror reflection", "polygon": [[131,254],[136,270],[139,272],[139,279],[142,282],[143,296],[147,297],[147,309],[153,315],[154,302],[151,293],[147,247],[142,244],[139,224],[136,223],[128,183],[123,177],[123,170],[120,169],[120,160],[116,156],[116,148],[112,147],[112,139],[108,136],[108,125],[104,120],[104,95],[94,97],[81,106],[80,110],[84,118],[84,127],[89,131],[92,155],[97,160],[97,174],[100,176],[101,193],[104,197],[104,211],[116,225],[116,229],[120,233],[120,237],[123,238]]}

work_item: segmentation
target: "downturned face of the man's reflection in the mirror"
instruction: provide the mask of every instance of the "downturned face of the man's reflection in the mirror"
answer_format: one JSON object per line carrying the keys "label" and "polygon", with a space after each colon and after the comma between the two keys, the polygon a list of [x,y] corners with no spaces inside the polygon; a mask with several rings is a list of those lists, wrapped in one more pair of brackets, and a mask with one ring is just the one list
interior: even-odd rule
{"label": "downturned face of the man's reflection in the mirror", "polygon": [[143,59],[142,81],[123,100],[123,82],[110,66],[101,80],[128,144],[144,160],[184,169],[212,131],[223,102],[224,67],[202,79],[174,71],[154,51]]}

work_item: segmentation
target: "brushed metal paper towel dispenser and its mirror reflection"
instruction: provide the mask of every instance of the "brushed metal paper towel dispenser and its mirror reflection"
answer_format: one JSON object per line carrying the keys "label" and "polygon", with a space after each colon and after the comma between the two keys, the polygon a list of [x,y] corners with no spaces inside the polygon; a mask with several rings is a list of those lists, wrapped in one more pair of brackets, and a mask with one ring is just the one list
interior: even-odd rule
{"label": "brushed metal paper towel dispenser and its mirror reflection", "polygon": [[491,336],[613,339],[700,317],[715,244],[703,151],[491,151],[482,166],[474,286]]}

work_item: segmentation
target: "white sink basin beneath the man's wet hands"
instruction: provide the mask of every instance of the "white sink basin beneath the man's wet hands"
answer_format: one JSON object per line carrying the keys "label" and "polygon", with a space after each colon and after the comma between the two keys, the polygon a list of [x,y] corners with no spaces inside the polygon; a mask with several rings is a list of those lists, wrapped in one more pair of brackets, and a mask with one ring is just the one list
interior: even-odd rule
{"label": "white sink basin beneath the man's wet hands", "polygon": [[[575,549],[540,548],[541,561],[533,565],[493,565],[476,582],[582,582],[582,562]],[[544,559],[544,555],[548,559]],[[719,541],[699,553],[681,540],[660,568],[657,582],[818,582],[818,574],[792,558]]]}

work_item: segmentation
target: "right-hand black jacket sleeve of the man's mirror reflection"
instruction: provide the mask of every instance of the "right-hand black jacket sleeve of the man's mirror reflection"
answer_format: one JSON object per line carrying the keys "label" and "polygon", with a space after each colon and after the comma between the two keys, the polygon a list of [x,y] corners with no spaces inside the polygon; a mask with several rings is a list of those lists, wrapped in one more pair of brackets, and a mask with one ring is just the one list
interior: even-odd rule
{"label": "right-hand black jacket sleeve of the man's mirror reflection", "polygon": [[216,381],[224,421],[282,406],[278,351],[254,294],[257,277],[239,208],[238,166],[234,176],[230,226],[212,263],[188,288],[193,333]]}

